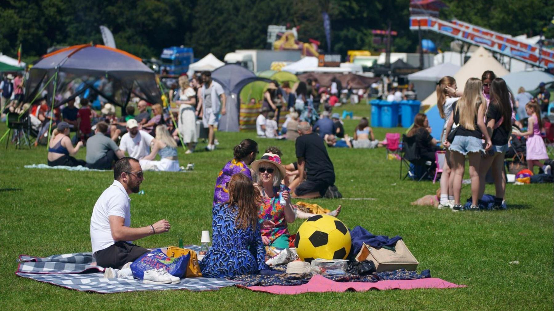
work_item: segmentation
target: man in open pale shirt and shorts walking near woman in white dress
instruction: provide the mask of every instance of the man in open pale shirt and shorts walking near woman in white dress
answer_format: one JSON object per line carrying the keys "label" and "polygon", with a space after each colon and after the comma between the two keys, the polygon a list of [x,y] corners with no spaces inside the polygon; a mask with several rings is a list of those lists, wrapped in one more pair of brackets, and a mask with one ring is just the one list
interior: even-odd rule
{"label": "man in open pale shirt and shorts walking near woman in white dress", "polygon": [[225,115],[226,97],[223,87],[216,81],[212,81],[212,73],[209,71],[202,72],[202,80],[204,85],[200,91],[202,97],[202,107],[204,109],[202,115],[202,123],[208,128],[208,146],[206,149],[212,151],[216,148],[214,144],[215,133],[219,121],[219,113]]}

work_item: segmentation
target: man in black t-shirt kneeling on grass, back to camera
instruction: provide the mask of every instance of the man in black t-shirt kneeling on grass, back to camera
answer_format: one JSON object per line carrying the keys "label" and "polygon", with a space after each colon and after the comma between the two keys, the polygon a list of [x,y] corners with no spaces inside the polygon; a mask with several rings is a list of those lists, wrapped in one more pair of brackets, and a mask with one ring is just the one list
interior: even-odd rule
{"label": "man in black t-shirt kneeling on grass, back to camera", "polygon": [[[327,188],[335,184],[335,168],[327,154],[327,149],[318,134],[312,133],[310,123],[301,122],[298,126],[300,137],[296,138],[296,158],[301,182],[291,189],[295,198],[319,198]],[[304,172],[306,170],[306,173]]]}

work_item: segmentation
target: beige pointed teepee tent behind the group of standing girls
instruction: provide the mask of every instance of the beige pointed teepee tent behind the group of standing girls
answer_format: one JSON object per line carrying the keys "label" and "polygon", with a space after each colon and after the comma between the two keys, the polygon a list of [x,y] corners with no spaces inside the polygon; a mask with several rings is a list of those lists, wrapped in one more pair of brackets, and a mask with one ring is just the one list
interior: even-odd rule
{"label": "beige pointed teepee tent behind the group of standing girls", "polygon": [[[465,81],[470,77],[481,78],[485,70],[492,70],[496,76],[504,76],[509,74],[509,71],[491,55],[483,46],[480,46],[472,55],[471,58],[463,65],[454,75],[458,90],[464,90]],[[423,106],[432,107],[437,105],[437,93],[433,92],[422,101]]]}

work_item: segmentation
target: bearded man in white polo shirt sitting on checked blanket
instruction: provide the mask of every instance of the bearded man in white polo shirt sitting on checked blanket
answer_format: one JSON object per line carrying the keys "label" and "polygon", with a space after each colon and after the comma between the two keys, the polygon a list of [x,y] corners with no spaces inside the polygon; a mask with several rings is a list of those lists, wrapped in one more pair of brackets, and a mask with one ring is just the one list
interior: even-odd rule
{"label": "bearded man in white polo shirt sitting on checked blanket", "polygon": [[146,248],[131,244],[131,241],[167,232],[171,226],[162,219],[152,225],[131,227],[129,194],[138,193],[144,180],[137,159],[124,157],[117,160],[114,179],[114,183],[104,190],[94,205],[90,218],[90,241],[98,266],[121,269],[125,263],[133,262],[148,252]]}

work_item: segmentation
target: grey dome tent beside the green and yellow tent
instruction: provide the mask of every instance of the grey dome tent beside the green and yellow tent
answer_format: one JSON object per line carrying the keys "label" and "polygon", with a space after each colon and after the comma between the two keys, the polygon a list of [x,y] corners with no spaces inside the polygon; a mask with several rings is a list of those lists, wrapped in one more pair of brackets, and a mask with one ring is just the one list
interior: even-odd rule
{"label": "grey dome tent beside the green and yellow tent", "polygon": [[254,72],[236,65],[227,64],[212,71],[212,79],[218,82],[225,91],[227,112],[219,118],[219,131],[239,131],[240,90],[254,81],[271,82],[270,79],[258,77]]}

